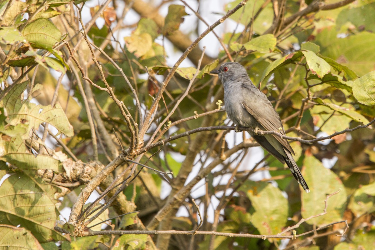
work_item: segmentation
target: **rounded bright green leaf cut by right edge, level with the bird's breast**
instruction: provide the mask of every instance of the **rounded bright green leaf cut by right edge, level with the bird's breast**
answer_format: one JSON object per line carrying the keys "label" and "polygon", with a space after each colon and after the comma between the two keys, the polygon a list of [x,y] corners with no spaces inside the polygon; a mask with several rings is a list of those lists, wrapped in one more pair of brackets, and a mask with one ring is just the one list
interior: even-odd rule
{"label": "rounded bright green leaf cut by right edge, level with the bird's breast", "polygon": [[367,73],[354,81],[353,94],[362,104],[375,104],[375,71]]}

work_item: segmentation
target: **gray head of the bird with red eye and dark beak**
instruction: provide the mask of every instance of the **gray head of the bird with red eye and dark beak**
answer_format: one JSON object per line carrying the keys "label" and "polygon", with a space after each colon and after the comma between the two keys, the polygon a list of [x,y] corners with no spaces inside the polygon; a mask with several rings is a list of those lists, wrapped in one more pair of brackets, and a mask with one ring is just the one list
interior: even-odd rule
{"label": "gray head of the bird with red eye and dark beak", "polygon": [[241,64],[234,62],[223,63],[219,69],[212,70],[210,74],[217,74],[223,84],[228,81],[238,81],[240,77],[249,79],[246,69]]}

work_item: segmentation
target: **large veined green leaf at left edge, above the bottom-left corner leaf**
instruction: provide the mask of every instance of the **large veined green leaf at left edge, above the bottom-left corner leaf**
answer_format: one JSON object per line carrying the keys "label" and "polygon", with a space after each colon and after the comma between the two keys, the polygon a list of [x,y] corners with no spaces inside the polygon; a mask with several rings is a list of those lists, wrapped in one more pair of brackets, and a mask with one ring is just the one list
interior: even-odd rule
{"label": "large veined green leaf at left edge, above the bottom-left corner leaf", "polygon": [[[0,178],[5,174],[6,171],[0,171]],[[0,186],[1,223],[21,225],[21,228],[31,231],[40,243],[63,240],[64,237],[54,231],[58,218],[56,201],[46,190],[56,192],[51,186],[22,172],[7,177]]]}

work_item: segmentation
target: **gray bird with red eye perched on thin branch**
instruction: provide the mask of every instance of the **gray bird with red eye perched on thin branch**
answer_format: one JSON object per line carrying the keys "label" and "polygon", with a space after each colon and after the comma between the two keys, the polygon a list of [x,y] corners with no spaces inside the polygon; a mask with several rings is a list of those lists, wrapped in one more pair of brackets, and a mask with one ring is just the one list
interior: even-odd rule
{"label": "gray bird with red eye perched on thin branch", "polygon": [[[280,131],[285,135],[279,114],[273,108],[267,96],[251,82],[248,72],[239,63],[224,63],[219,70],[210,73],[217,74],[224,86],[224,105],[229,118],[238,127],[253,127],[260,130]],[[287,163],[294,178],[306,192],[309,187],[303,178],[292,154],[294,151],[286,139],[277,135],[260,136],[254,132],[249,134],[265,150],[283,164]]]}

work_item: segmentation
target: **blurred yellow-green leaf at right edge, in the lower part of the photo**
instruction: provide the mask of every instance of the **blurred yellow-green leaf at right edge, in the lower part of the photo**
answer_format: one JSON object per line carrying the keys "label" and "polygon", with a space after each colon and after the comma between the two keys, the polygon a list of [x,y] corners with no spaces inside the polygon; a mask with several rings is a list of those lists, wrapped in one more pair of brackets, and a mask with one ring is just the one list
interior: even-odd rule
{"label": "blurred yellow-green leaf at right edge, in the lower part of the photo", "polygon": [[375,182],[362,186],[350,198],[348,208],[356,217],[375,211]]}

